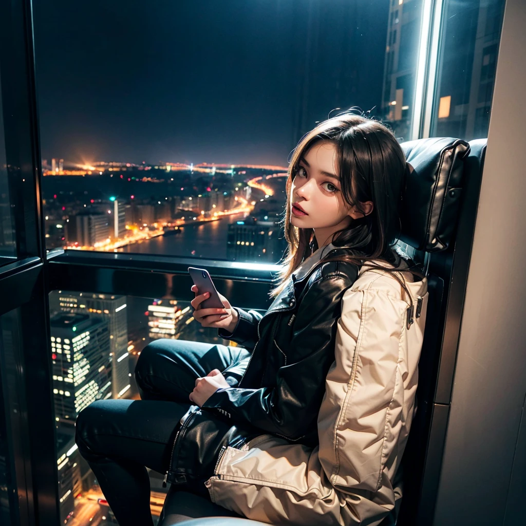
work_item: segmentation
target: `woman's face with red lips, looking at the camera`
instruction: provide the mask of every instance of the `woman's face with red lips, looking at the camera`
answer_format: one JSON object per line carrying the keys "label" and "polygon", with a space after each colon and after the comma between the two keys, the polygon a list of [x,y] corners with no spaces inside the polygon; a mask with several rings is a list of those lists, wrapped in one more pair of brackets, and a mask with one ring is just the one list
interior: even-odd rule
{"label": "woman's face with red lips, looking at the camera", "polygon": [[[320,247],[362,215],[342,197],[337,150],[328,140],[313,145],[300,159],[290,197],[290,222],[299,228],[313,228]],[[298,212],[295,205],[306,214]]]}

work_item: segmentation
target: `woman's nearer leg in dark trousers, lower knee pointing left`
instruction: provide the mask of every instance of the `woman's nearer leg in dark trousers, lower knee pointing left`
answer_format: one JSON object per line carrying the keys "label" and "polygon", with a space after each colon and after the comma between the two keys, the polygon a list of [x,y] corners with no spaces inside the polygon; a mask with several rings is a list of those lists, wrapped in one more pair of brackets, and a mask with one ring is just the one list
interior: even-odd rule
{"label": "woman's nearer leg in dark trousers, lower knee pointing left", "polygon": [[146,467],[168,468],[177,423],[189,404],[97,400],[80,412],[75,440],[120,526],[153,526]]}

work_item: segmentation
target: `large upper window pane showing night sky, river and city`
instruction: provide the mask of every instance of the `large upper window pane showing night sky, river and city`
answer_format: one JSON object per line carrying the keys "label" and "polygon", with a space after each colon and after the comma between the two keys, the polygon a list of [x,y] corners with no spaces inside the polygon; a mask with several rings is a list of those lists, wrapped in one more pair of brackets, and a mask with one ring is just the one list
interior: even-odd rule
{"label": "large upper window pane showing night sky, river and city", "polygon": [[317,121],[408,137],[421,4],[35,3],[47,247],[278,261]]}

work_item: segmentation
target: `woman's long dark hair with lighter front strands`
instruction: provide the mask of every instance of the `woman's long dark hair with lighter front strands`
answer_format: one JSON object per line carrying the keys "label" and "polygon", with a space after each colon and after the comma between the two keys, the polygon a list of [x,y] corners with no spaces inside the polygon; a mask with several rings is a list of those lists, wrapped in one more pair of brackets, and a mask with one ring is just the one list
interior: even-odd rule
{"label": "woman's long dark hair with lighter front strands", "polygon": [[[407,292],[412,304],[404,281],[395,274],[400,271],[401,260],[393,252],[400,234],[399,206],[406,157],[391,130],[377,120],[352,112],[342,113],[318,124],[301,138],[292,153],[286,183],[285,217],[282,219],[288,252],[279,271],[279,283],[270,291],[270,295],[277,296],[285,288],[292,272],[318,248],[312,228],[298,228],[290,222],[290,190],[299,160],[322,140],[329,140],[336,146],[343,199],[364,215],[360,219],[353,219],[348,228],[338,230],[333,236],[333,245],[349,247],[348,254],[322,258],[318,264],[347,261],[361,266],[367,262],[368,269],[390,272]],[[366,201],[373,203],[369,215],[365,215],[361,206]],[[379,261],[389,265],[380,265]],[[417,270],[404,270],[423,278]]]}

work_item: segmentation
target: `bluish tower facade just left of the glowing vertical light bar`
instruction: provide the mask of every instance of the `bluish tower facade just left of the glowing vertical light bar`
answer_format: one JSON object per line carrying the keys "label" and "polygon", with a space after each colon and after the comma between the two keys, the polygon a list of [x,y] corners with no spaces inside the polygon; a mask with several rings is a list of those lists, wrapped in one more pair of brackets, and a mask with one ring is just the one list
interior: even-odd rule
{"label": "bluish tower facade just left of the glowing vertical light bar", "polygon": [[382,95],[383,122],[411,137],[423,0],[390,0]]}

